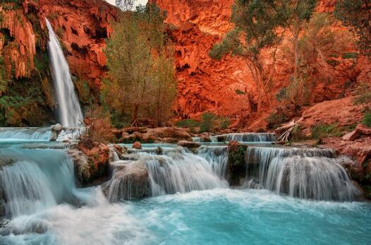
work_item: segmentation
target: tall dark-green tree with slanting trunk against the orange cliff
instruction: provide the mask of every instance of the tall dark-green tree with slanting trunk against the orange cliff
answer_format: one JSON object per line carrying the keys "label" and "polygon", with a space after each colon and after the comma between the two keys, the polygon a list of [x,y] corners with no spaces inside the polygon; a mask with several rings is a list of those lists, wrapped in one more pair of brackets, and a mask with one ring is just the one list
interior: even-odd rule
{"label": "tall dark-green tree with slanting trunk against the orange cliff", "polygon": [[[257,86],[257,112],[261,112],[262,102],[267,88],[272,84],[275,73],[276,51],[283,32],[277,32],[283,17],[276,11],[274,1],[236,0],[232,6],[231,22],[234,29],[226,34],[219,44],[215,44],[209,55],[221,59],[225,54],[243,56]],[[262,59],[264,48],[274,47],[273,64],[268,65]]]}

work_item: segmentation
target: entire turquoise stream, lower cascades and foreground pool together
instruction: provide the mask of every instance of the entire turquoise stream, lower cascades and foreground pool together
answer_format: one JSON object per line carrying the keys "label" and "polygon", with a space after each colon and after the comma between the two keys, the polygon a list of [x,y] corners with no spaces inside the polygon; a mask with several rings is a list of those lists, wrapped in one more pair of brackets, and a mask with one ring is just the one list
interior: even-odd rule
{"label": "entire turquoise stream, lower cascades and foreground pool together", "polygon": [[[150,195],[121,201],[117,189],[123,182],[111,185],[109,198],[101,186],[78,188],[66,150],[49,142],[40,148],[37,139],[47,130],[28,130],[13,129],[34,135],[33,143],[0,143],[0,213],[10,220],[0,228],[0,244],[368,244],[371,239],[371,204],[356,201],[358,190],[329,150],[248,143],[245,185],[231,188],[224,143],[205,143],[195,152],[144,144],[142,150],[129,148],[126,160],[115,153],[111,165],[145,166]],[[20,135],[8,132],[3,141]]]}

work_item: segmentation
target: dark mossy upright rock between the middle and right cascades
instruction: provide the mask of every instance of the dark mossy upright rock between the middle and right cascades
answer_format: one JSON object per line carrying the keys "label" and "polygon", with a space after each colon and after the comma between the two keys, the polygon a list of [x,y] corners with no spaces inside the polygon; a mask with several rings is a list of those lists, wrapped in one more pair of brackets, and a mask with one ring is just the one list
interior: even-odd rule
{"label": "dark mossy upright rock between the middle and right cascades", "polygon": [[226,170],[226,178],[231,186],[240,185],[241,179],[245,179],[245,152],[247,149],[247,145],[241,145],[237,141],[230,141],[228,144],[228,165]]}

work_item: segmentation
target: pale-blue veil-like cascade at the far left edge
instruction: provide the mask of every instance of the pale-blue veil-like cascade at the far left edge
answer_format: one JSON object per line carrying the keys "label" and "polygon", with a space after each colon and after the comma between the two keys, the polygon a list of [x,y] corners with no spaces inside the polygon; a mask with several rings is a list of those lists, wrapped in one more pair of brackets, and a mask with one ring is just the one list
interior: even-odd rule
{"label": "pale-blue veil-like cascade at the far left edge", "polygon": [[1,149],[0,188],[8,217],[28,215],[74,201],[73,164],[63,151]]}

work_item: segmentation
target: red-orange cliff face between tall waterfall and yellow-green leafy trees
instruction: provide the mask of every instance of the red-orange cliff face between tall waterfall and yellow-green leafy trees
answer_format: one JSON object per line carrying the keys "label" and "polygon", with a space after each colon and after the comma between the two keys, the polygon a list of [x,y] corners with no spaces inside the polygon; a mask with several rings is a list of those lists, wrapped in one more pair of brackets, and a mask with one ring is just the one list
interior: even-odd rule
{"label": "red-orange cliff face between tall waterfall and yellow-green leafy trees", "polygon": [[107,62],[104,39],[111,35],[116,8],[103,0],[39,0],[39,5],[63,42],[71,72],[99,89]]}

